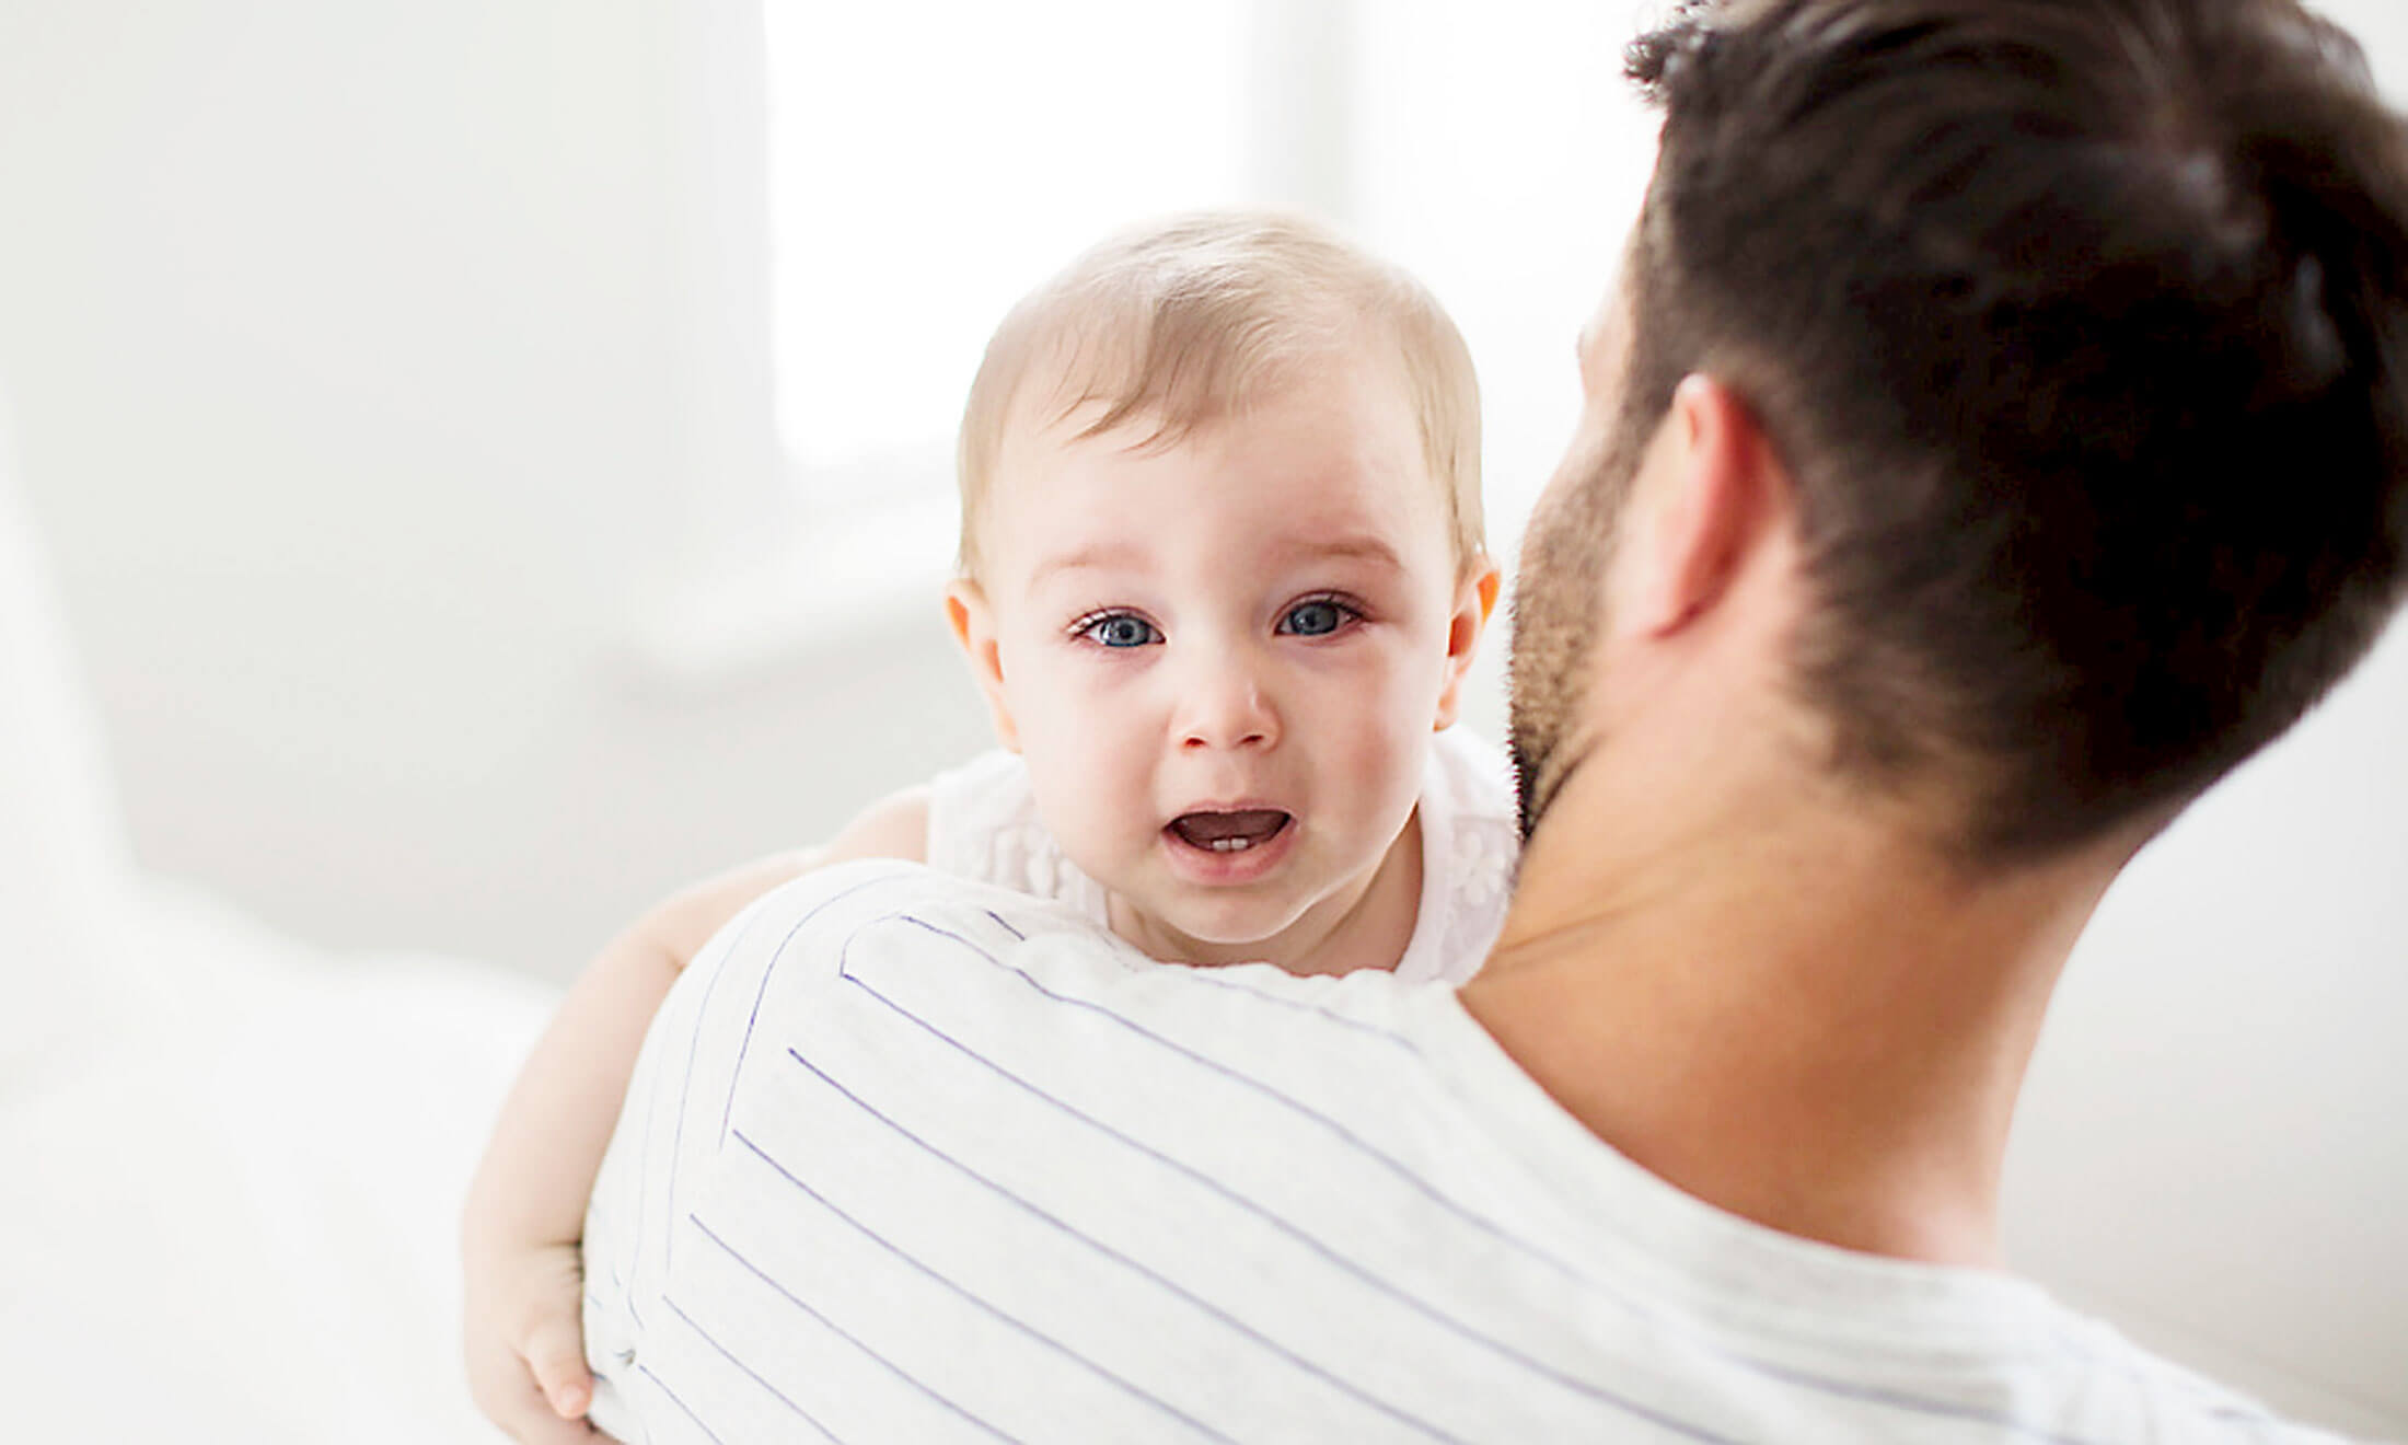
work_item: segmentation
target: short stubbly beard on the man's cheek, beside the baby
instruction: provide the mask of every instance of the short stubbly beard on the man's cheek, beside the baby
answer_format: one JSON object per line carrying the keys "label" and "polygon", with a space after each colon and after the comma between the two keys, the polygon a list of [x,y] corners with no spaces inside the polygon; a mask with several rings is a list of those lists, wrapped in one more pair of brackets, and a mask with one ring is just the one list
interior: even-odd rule
{"label": "short stubbly beard on the man's cheek, beside the baby", "polygon": [[1616,426],[1597,467],[1553,489],[1522,535],[1512,643],[1505,653],[1510,751],[1522,843],[1589,754],[1582,732],[1606,621],[1606,561],[1647,431]]}

